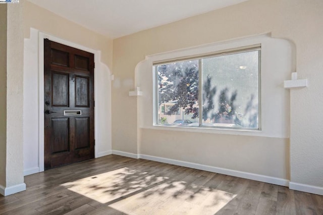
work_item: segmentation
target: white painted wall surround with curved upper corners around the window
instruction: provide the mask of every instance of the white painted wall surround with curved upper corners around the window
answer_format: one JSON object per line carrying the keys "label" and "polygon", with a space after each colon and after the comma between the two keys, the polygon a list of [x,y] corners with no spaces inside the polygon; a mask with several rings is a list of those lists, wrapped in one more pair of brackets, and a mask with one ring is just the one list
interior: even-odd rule
{"label": "white painted wall surround with curved upper corners around the window", "polygon": [[[169,59],[180,59],[185,56],[203,56],[221,50],[236,49],[243,46],[261,44],[261,131],[237,130],[206,127],[172,127],[157,125],[155,109],[155,73],[153,62],[163,62]],[[136,85],[144,92],[138,100],[138,125],[143,129],[158,129],[170,131],[233,134],[265,137],[289,137],[289,91],[284,89],[284,80],[290,77],[294,68],[292,44],[285,39],[272,38],[269,34],[243,39],[217,42],[197,47],[185,48],[156,55],[147,56],[136,67]]]}

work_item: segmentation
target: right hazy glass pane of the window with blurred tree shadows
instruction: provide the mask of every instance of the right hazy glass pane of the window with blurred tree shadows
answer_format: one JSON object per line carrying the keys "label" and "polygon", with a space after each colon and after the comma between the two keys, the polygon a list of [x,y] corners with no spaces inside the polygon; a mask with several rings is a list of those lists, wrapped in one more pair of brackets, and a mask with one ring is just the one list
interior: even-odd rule
{"label": "right hazy glass pane of the window with blurred tree shadows", "polygon": [[259,51],[202,59],[202,125],[258,128]]}

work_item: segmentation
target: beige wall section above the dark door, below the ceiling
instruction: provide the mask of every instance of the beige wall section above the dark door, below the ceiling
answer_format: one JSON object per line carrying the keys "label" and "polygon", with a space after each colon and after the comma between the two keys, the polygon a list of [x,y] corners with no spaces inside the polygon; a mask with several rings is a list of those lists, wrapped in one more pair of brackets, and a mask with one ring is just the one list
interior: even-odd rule
{"label": "beige wall section above the dark door, below the ceiling", "polygon": [[24,11],[24,35],[29,38],[30,28],[74,42],[95,50],[101,50],[101,62],[112,68],[112,40],[64,19],[48,10],[26,1]]}

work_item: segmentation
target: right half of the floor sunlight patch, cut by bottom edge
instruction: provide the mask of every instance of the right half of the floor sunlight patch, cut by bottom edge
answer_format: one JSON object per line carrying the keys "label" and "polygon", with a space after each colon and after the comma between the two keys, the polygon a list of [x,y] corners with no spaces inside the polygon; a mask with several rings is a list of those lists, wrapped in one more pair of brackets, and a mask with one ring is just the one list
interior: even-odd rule
{"label": "right half of the floor sunlight patch, cut by bottom edge", "polygon": [[126,214],[214,214],[235,194],[183,181],[165,182],[110,206]]}

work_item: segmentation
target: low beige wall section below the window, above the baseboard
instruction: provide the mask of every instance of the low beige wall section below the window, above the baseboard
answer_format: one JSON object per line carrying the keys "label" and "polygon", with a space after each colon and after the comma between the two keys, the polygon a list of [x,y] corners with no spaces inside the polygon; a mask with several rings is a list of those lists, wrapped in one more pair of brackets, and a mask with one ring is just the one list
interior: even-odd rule
{"label": "low beige wall section below the window, above the baseboard", "polygon": [[142,129],[140,153],[288,179],[287,138]]}

